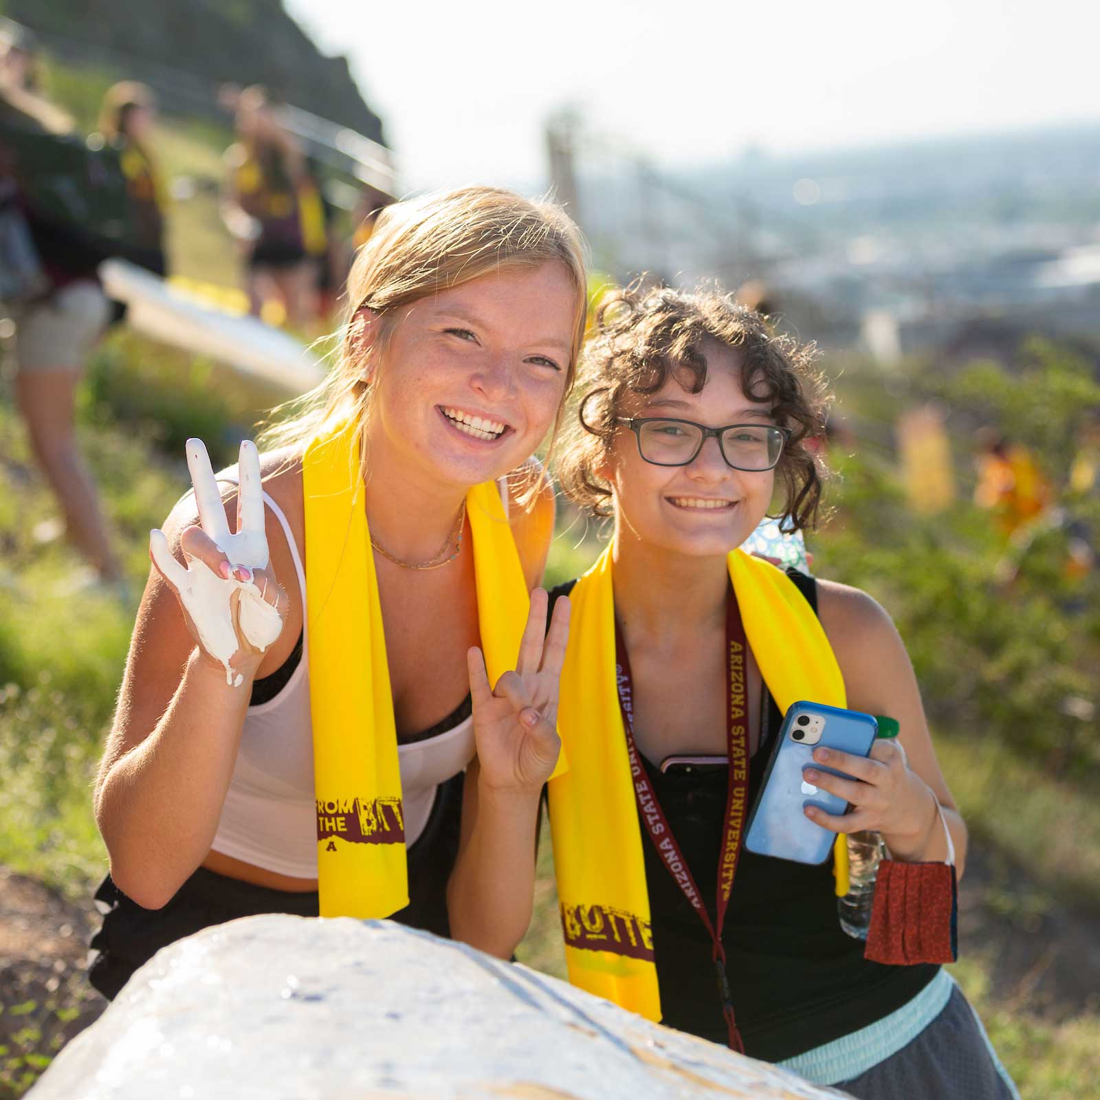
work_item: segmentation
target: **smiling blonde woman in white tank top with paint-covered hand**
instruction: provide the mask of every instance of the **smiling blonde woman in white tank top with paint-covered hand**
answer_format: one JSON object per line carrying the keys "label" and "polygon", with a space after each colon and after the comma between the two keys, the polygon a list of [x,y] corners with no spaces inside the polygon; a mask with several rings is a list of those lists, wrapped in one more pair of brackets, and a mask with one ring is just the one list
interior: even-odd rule
{"label": "smiling blonde woman in white tank top with paint-covered hand", "polygon": [[[349,286],[310,411],[218,488],[193,441],[196,494],[153,532],[96,783],[109,997],[235,916],[465,938],[517,882],[530,898],[568,614],[543,648],[553,497],[531,454],[583,338],[581,240],[553,206],[470,188],[388,208]],[[483,942],[501,954],[529,903],[508,911]]]}

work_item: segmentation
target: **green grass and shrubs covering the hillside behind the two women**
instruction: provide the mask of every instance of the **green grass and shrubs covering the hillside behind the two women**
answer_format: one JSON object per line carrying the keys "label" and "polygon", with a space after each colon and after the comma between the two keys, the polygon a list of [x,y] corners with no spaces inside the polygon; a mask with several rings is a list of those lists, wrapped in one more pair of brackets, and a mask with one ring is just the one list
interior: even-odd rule
{"label": "green grass and shrubs covering the hillside behind the two women", "polygon": [[[96,73],[55,73],[54,86],[77,111],[78,101],[98,102],[105,80]],[[218,177],[220,146],[208,135],[168,124],[162,138],[169,174]],[[197,189],[173,219],[176,270],[232,283],[216,195]],[[968,474],[974,428],[994,424],[1033,448],[1050,482],[1065,486],[1079,431],[1089,410],[1100,408],[1093,369],[1041,342],[1011,367],[981,363],[946,373],[911,364],[887,384],[866,364],[828,366],[840,377],[838,411],[850,418],[856,441],[833,448],[837,515],[811,537],[815,571],[866,588],[893,615],[972,835],[1026,870],[1004,893],[1005,920],[1027,926],[1067,899],[1100,913],[1100,749],[1091,736],[1100,706],[1100,571],[1074,576],[1066,569],[1074,532],[1090,527],[1100,535],[1100,501],[1096,490],[1091,497],[1063,492],[1059,522],[1007,543],[989,514],[969,503]],[[105,342],[84,389],[81,436],[128,548],[134,594],[147,572],[148,529],[187,488],[183,440],[201,436],[216,462],[232,461],[238,441],[275,396],[125,331]],[[899,414],[930,400],[950,410],[961,492],[947,510],[925,517],[906,504],[892,426]],[[0,861],[86,897],[105,869],[90,785],[135,598],[123,605],[95,591],[59,597],[78,563],[64,546],[41,543],[34,534],[54,514],[0,381]],[[582,571],[597,535],[563,509],[548,582]],[[535,922],[519,954],[561,975],[546,845],[539,872]],[[1100,1087],[1097,1010],[1052,1023],[1032,1011],[1026,982],[1009,1001],[990,992],[997,966],[979,952],[956,974],[1024,1096],[1076,1098]],[[33,1049],[30,1033],[24,1037],[18,1066],[4,1069],[9,1052],[0,1050],[0,1092],[13,1082],[25,1087],[52,1054]]]}

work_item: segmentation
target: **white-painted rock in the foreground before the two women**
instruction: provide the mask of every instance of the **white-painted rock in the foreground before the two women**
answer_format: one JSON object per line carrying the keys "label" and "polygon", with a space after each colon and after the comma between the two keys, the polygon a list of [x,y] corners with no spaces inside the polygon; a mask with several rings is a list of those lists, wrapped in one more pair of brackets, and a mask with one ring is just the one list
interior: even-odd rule
{"label": "white-painted rock in the foreground before the two women", "polygon": [[839,1096],[388,921],[270,915],[146,964],[33,1100]]}

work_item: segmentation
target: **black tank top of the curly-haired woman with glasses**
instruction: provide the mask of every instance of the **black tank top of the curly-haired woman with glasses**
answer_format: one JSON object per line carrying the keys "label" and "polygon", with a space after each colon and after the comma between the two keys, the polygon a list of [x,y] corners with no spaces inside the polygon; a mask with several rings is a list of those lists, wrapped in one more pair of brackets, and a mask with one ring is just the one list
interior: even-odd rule
{"label": "black tank top of the curly-haired woman with glasses", "polygon": [[[816,582],[788,574],[814,610]],[[575,581],[560,585],[552,601]],[[749,803],[760,792],[782,716],[766,692],[767,728],[749,766]],[[712,922],[726,810],[724,768],[662,773],[642,757],[653,791],[698,883]],[[662,1023],[725,1045],[711,937],[641,831]],[[743,850],[722,934],[745,1049],[782,1062],[881,1020],[915,997],[937,966],[868,963],[862,941],[840,927],[833,862],[820,867]]]}

